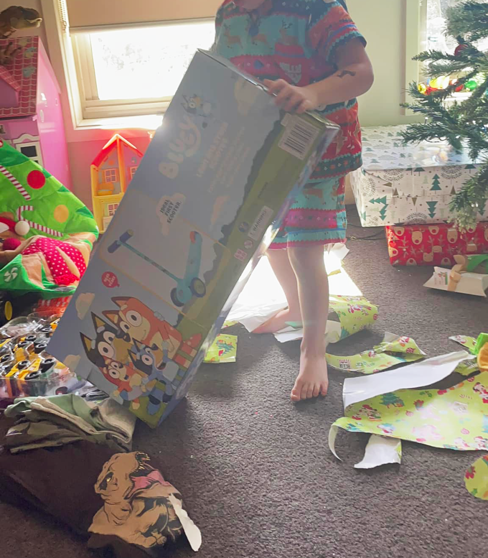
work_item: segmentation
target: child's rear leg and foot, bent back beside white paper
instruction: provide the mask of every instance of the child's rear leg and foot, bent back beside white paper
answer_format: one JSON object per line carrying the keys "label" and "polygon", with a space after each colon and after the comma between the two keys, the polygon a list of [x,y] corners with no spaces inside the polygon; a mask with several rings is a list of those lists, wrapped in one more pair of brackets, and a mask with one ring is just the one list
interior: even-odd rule
{"label": "child's rear leg and foot, bent back beside white paper", "polygon": [[296,276],[291,267],[286,248],[268,250],[267,257],[271,268],[278,279],[278,282],[285,293],[288,308],[280,310],[266,323],[256,328],[252,333],[275,333],[286,328],[286,323],[290,321],[302,321],[300,313],[300,300],[298,297],[298,286]]}

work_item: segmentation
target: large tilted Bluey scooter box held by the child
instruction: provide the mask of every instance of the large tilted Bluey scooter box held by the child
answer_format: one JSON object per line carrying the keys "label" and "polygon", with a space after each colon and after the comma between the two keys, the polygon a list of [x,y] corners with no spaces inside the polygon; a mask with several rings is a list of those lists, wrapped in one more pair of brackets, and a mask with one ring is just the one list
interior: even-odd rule
{"label": "large tilted Bluey scooter box held by the child", "polygon": [[50,352],[157,425],[336,132],[197,52]]}

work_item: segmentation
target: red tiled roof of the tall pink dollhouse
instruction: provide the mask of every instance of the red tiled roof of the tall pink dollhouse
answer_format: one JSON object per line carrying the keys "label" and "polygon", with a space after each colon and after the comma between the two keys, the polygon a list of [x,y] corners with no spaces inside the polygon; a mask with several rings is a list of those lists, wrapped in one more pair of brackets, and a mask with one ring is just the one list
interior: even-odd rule
{"label": "red tiled roof of the tall pink dollhouse", "polygon": [[37,103],[37,66],[39,60],[39,37],[20,37],[20,39],[0,39],[0,48],[12,42],[14,48],[21,50],[5,68],[16,81],[18,89],[17,107],[0,109],[0,118],[29,116],[36,113]]}

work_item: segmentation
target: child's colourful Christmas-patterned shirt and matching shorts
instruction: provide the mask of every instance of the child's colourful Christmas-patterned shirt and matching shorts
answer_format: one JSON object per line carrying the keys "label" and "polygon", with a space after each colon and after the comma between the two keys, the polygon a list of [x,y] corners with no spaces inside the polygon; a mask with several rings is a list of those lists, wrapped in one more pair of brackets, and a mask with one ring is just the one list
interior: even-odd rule
{"label": "child's colourful Christmas-patterned shirt and matching shorts", "polygon": [[[363,40],[339,1],[266,0],[247,12],[225,0],[217,12],[213,51],[259,80],[305,86],[332,75],[337,47],[357,38]],[[270,248],[345,242],[344,177],[362,162],[357,100],[318,112],[342,133],[295,198]]]}

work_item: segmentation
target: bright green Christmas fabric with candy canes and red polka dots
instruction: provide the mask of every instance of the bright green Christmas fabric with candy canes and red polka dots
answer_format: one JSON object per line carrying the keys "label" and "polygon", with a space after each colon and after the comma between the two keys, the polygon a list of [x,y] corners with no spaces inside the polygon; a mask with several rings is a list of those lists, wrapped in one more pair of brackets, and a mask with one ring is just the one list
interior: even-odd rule
{"label": "bright green Christmas fabric with candy canes and red polka dots", "polygon": [[0,140],[0,291],[73,294],[98,238],[92,213],[45,169]]}

